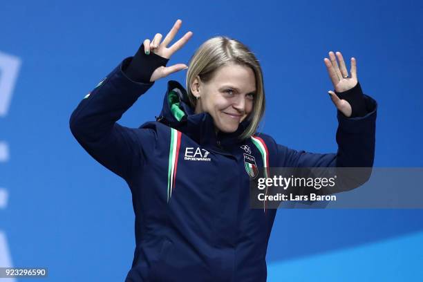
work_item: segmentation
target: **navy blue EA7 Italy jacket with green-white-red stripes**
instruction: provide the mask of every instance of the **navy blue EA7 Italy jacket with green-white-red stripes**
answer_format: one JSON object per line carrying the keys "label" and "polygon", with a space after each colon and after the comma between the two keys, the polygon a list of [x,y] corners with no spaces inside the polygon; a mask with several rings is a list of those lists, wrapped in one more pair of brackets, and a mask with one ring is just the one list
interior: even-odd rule
{"label": "navy blue EA7 Italy jacket with green-white-red stripes", "polygon": [[337,153],[296,151],[264,133],[241,141],[247,120],[216,135],[212,116],[195,114],[173,80],[156,121],[122,126],[122,114],[153,85],[122,72],[129,60],[79,102],[70,120],[79,144],[131,189],[136,247],[127,282],[266,280],[276,209],[250,208],[246,148],[258,167],[373,166],[377,104],[368,95],[363,117],[338,111]]}

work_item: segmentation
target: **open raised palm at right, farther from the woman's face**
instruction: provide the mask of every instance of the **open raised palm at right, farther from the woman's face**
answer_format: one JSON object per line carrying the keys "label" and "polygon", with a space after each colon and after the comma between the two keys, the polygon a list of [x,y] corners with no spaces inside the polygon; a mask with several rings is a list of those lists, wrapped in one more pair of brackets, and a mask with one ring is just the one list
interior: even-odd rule
{"label": "open raised palm at right, farther from the woman's face", "polygon": [[[348,71],[346,69],[344,58],[342,57],[341,52],[337,52],[339,64],[337,62],[335,54],[332,51],[329,52],[329,57],[330,59],[324,58],[324,61],[326,64],[326,68],[328,69],[330,80],[332,81],[333,87],[335,88],[335,91],[344,92],[356,86],[357,62],[355,61],[355,58],[351,58],[351,75],[348,75]],[[349,118],[351,116],[351,113],[353,112],[350,103],[348,103],[346,100],[339,99],[339,97],[333,91],[328,91],[328,93],[333,104],[335,104],[337,109]]]}

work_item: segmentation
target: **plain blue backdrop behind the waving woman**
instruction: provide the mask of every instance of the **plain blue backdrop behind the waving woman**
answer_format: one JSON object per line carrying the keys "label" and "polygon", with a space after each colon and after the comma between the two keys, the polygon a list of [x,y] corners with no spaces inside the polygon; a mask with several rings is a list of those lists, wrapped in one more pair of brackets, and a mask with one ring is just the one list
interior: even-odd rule
{"label": "plain blue backdrop behind the waving woman", "polygon": [[[364,93],[379,103],[375,167],[422,167],[422,14],[421,1],[3,1],[0,51],[21,59],[0,118],[10,151],[0,163],[9,194],[0,230],[12,265],[48,267],[39,281],[124,281],[135,246],[129,188],[77,144],[68,120],[124,57],[176,19],[176,39],[194,35],[168,66],[187,64],[209,37],[243,41],[263,67],[261,131],[294,149],[337,150],[323,58],[339,50],[349,71],[355,57]],[[185,73],[156,82],[120,124],[153,120],[169,79],[183,85]],[[268,281],[421,281],[422,216],[279,210]]]}

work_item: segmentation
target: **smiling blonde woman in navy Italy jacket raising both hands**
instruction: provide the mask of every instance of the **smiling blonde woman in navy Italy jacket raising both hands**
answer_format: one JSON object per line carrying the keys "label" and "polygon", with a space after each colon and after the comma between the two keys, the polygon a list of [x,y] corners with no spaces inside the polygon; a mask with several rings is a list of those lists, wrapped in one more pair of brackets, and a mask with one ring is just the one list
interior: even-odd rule
{"label": "smiling blonde woman in navy Italy jacket raising both hands", "polygon": [[189,62],[186,86],[169,81],[162,111],[138,129],[117,121],[162,77],[189,40],[146,39],[79,103],[70,125],[95,160],[128,183],[135,253],[126,281],[265,281],[276,209],[251,209],[256,167],[372,167],[376,102],[361,92],[355,59],[324,59],[335,92],[338,152],[295,151],[256,128],[265,109],[261,67],[241,42],[214,37]]}

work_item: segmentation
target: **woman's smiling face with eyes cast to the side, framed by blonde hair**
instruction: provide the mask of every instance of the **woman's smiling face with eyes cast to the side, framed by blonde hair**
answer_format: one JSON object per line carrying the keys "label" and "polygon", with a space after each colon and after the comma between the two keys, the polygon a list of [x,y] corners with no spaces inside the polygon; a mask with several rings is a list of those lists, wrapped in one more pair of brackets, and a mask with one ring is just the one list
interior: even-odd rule
{"label": "woman's smiling face with eyes cast to the side, framed by blonde hair", "polygon": [[209,82],[194,79],[191,92],[198,96],[196,113],[212,115],[216,129],[232,133],[253,109],[256,79],[252,68],[221,66]]}

